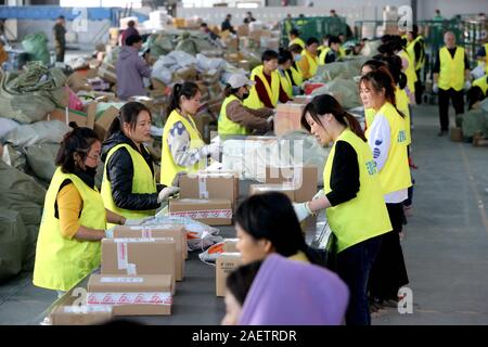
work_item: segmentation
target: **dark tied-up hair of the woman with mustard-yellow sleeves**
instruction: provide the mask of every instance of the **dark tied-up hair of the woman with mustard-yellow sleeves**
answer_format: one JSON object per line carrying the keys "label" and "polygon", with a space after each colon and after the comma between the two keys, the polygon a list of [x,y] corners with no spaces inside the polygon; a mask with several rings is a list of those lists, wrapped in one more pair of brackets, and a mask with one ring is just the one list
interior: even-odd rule
{"label": "dark tied-up hair of the woman with mustard-yellow sleeves", "polygon": [[77,167],[74,154],[78,153],[81,160],[87,158],[91,145],[100,141],[99,136],[90,128],[80,128],[75,121],[70,121],[72,131],[67,132],[61,141],[55,165],[61,166],[64,174],[73,174]]}

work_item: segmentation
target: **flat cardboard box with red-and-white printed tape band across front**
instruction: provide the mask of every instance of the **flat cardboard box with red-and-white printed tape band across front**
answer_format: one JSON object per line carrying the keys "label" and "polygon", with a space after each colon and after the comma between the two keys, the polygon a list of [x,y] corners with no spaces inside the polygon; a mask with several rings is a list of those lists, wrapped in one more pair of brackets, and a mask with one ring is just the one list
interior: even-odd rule
{"label": "flat cardboard box with red-and-white printed tape band across front", "polygon": [[171,314],[171,275],[101,275],[88,281],[88,306],[111,305],[114,316]]}

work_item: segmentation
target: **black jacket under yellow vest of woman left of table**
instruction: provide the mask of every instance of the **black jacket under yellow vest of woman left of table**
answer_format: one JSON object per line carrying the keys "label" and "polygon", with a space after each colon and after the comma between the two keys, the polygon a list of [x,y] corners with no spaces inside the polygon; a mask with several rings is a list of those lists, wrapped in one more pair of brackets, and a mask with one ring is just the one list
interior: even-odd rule
{"label": "black jacket under yellow vest of woman left of table", "polygon": [[[105,163],[108,152],[117,144],[127,143],[132,149],[139,152],[136,144],[121,132],[115,132],[104,143],[102,147],[102,162]],[[151,154],[141,146],[142,157],[147,163],[154,177],[153,158]],[[117,150],[112,156],[108,163],[105,163],[105,169],[107,179],[112,185],[112,197],[118,208],[132,209],[132,210],[146,210],[155,209],[159,207],[157,203],[157,193],[154,194],[133,194],[132,193],[132,178],[133,178],[133,165],[132,158],[126,149]],[[158,184],[157,191],[162,190],[162,185]]]}

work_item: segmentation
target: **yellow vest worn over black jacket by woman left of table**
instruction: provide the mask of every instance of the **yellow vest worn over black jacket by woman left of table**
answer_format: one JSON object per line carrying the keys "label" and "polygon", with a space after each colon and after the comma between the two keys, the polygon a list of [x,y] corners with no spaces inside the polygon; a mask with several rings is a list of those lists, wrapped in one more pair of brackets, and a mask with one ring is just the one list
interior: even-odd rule
{"label": "yellow vest worn over black jacket by woman left of table", "polygon": [[144,160],[141,153],[132,149],[127,143],[120,143],[115,145],[112,150],[108,151],[108,154],[105,159],[105,167],[103,169],[103,180],[102,180],[102,198],[105,208],[117,214],[124,216],[128,219],[140,219],[149,216],[154,216],[156,214],[155,209],[147,210],[133,210],[133,209],[125,209],[118,207],[114,202],[114,196],[112,194],[112,182],[107,178],[108,163],[114,155],[120,149],[126,149],[129,152],[130,158],[132,159],[132,193],[133,194],[155,194],[157,193],[156,188],[156,178],[151,171],[147,162]]}

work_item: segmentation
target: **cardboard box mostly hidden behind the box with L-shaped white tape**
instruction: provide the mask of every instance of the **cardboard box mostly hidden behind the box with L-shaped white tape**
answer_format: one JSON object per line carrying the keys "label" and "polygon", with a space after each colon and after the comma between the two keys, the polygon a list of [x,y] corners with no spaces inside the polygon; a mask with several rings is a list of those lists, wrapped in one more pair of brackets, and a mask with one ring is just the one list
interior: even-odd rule
{"label": "cardboard box mostly hidden behind the box with L-shaped white tape", "polygon": [[[160,227],[142,227],[142,226],[117,226],[114,229],[114,239],[125,237],[172,237],[176,241],[177,261],[175,268],[175,279],[182,281],[184,275],[184,259],[187,259],[187,230],[182,226],[160,226]],[[178,260],[179,259],[179,260]]]}

